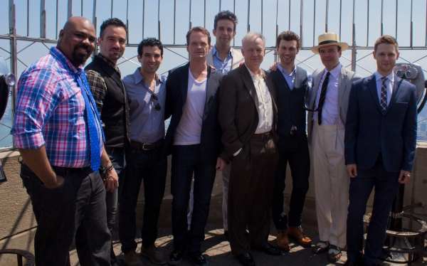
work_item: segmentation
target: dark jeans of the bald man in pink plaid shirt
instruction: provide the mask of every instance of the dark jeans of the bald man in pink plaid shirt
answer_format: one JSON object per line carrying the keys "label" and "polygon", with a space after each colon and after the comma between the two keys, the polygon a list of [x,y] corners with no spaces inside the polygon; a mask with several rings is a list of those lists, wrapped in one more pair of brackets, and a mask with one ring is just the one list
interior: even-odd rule
{"label": "dark jeans of the bald man in pink plaid shirt", "polygon": [[[56,170],[56,174],[64,177],[64,183],[46,188],[28,166],[21,165],[21,179],[38,225],[34,238],[36,265],[70,265],[68,250],[74,238],[80,265],[110,265],[111,235],[100,174],[89,167]],[[82,233],[76,234],[77,230]],[[89,243],[90,252],[82,252],[82,242]]]}

